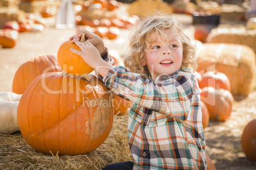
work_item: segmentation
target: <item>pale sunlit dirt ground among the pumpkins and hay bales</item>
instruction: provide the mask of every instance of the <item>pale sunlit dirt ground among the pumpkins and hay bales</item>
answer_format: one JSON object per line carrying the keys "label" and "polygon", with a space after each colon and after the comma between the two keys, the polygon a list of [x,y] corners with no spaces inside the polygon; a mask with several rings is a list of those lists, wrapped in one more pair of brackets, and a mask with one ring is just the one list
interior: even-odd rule
{"label": "pale sunlit dirt ground among the pumpkins and hay bales", "polygon": [[[54,19],[50,19],[50,23],[53,22]],[[13,77],[22,63],[39,55],[57,55],[60,44],[75,32],[76,29],[57,30],[48,25],[42,32],[20,33],[14,48],[0,48],[0,91],[11,91]],[[122,57],[128,35],[129,30],[121,30],[118,39],[104,39],[105,45]],[[206,152],[216,169],[256,169],[256,162],[248,160],[241,148],[241,134],[252,119],[256,119],[256,91],[243,100],[234,101],[231,117],[227,121],[210,121],[204,131]]]}

